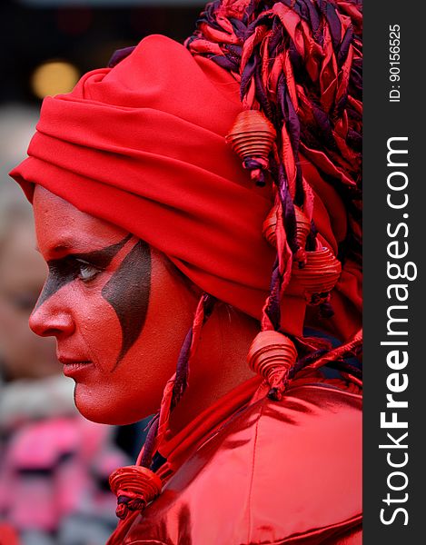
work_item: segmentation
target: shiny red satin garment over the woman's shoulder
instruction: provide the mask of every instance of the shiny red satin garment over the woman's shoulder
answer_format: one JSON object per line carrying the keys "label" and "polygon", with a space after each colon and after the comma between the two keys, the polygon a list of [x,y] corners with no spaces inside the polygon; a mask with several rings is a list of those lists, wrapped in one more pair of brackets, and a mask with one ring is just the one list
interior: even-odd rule
{"label": "shiny red satin garment over the woman's shoulder", "polygon": [[362,519],[356,387],[295,380],[207,434],[144,514],[108,545],[356,545]]}

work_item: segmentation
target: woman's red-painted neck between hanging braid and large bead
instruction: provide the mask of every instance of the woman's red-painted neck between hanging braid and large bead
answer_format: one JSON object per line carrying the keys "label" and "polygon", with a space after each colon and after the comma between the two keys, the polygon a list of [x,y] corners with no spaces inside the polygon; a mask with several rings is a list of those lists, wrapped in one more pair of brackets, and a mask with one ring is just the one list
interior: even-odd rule
{"label": "woman's red-painted neck between hanging braid and large bead", "polygon": [[229,305],[219,303],[203,326],[189,375],[189,385],[170,419],[172,434],[223,395],[253,377],[247,352],[259,323]]}

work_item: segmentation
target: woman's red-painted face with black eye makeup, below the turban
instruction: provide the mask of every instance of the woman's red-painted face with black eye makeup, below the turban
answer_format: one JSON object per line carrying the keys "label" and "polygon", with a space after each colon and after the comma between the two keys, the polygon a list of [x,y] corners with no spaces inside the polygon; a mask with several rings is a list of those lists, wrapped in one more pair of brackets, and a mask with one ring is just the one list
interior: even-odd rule
{"label": "woman's red-painted face with black eye makeup, below the turban", "polygon": [[86,418],[140,420],[158,409],[196,294],[162,253],[40,186],[34,211],[49,274],[31,328],[56,338]]}

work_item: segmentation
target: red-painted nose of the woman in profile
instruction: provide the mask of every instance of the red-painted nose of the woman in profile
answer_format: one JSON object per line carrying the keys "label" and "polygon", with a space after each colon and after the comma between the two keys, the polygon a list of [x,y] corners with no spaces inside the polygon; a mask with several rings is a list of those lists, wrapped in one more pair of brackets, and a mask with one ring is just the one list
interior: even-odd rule
{"label": "red-painted nose of the woman in profile", "polygon": [[54,298],[48,299],[41,305],[35,305],[29,319],[30,328],[40,337],[63,337],[74,332],[72,314],[65,308],[54,303]]}

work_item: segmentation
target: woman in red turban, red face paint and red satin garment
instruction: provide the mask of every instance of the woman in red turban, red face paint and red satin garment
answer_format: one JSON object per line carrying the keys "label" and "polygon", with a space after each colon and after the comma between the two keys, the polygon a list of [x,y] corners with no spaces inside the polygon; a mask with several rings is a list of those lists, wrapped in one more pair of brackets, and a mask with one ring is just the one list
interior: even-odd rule
{"label": "woman in red turban, red face paint and red satin garment", "polygon": [[160,405],[109,543],[361,542],[361,22],[214,2],[45,100],[31,327],[87,418]]}

